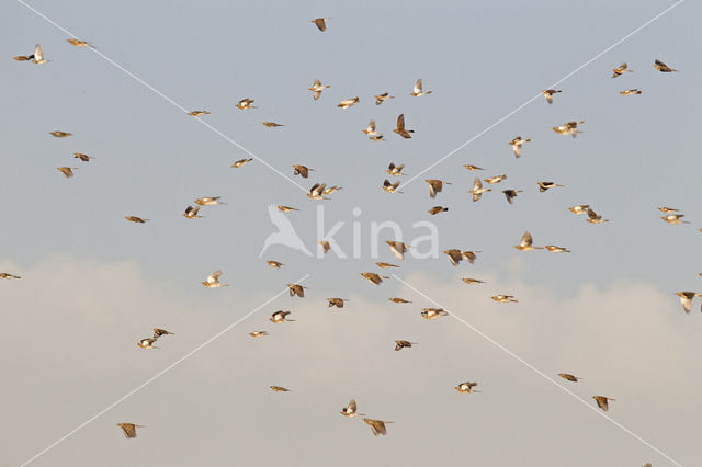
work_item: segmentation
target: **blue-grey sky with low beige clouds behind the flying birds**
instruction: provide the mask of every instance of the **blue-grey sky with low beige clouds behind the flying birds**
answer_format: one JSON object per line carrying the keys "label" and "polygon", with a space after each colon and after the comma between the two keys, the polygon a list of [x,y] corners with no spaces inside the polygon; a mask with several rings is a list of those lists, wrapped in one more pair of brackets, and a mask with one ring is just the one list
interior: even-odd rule
{"label": "blue-grey sky with low beige clouds behind the flying birds", "polygon": [[[30,4],[172,102],[70,46],[22,3],[0,5],[0,271],[23,277],[0,284],[2,464],[30,459],[307,274],[304,299],[276,298],[32,465],[95,456],[105,466],[670,463],[460,321],[422,320],[421,308],[435,304],[395,277],[365,282],[359,273],[378,272],[375,261],[398,263],[387,248],[370,254],[371,225],[386,220],[406,241],[427,234],[414,223],[431,220],[440,250],[482,251],[474,265],[454,269],[442,254],[407,258],[392,273],[548,376],[582,376],[567,389],[592,405],[592,395],[618,399],[613,420],[679,463],[698,462],[699,304],[686,316],[675,296],[702,288],[698,4],[681,3],[558,83],[553,105],[540,96],[400,185],[403,194],[381,189],[390,161],[406,164],[405,183],[672,2]],[[332,18],[327,32],[309,22],[317,16]],[[36,43],[52,61],[11,59]],[[656,58],[680,72],[656,71]],[[612,79],[622,61],[634,72]],[[409,95],[418,78],[431,95]],[[318,101],[307,90],[314,79],[331,86]],[[631,88],[643,94],[619,94]],[[382,92],[396,99],[376,106]],[[337,107],[356,95],[355,106]],[[258,109],[236,109],[244,98]],[[250,155],[173,102],[212,112],[201,118],[254,160],[229,168]],[[400,113],[411,139],[392,133]],[[385,141],[362,134],[370,119]],[[577,139],[551,129],[574,119],[585,121]],[[54,138],[55,129],[73,136]],[[520,159],[507,144],[517,135],[532,139]],[[324,202],[325,226],[346,223],[335,240],[350,253],[358,223],[360,258],[320,260],[282,246],[259,258],[274,231],[271,204],[301,209],[286,217],[316,253],[322,202],[257,158],[290,178],[293,163],[314,168],[307,180],[293,178],[305,189],[342,186]],[[60,166],[79,169],[67,180]],[[471,201],[475,175],[502,173],[506,181]],[[452,184],[432,200],[428,178]],[[565,187],[539,193],[542,180]],[[506,189],[524,193],[509,205]],[[227,204],[204,208],[203,219],[181,216],[212,195]],[[566,209],[576,204],[610,221],[586,223]],[[450,210],[429,216],[435,205]],[[692,224],[665,224],[659,206],[680,208]],[[151,220],[134,225],[125,215]],[[537,246],[573,252],[517,251],[524,230]],[[285,266],[274,271],[265,259]],[[202,287],[217,269],[230,286]],[[468,286],[465,276],[487,284]],[[495,304],[496,293],[519,303]],[[351,301],[330,311],[325,298],[335,296]],[[392,296],[414,303],[393,305]],[[278,309],[297,321],[270,323]],[[158,351],[136,348],[151,327],[177,335],[159,340]],[[271,335],[253,340],[254,329]],[[394,339],[420,345],[396,353]],[[457,394],[463,380],[483,392]],[[395,422],[386,437],[337,413],[350,398]],[[123,421],[147,428],[127,442],[114,426]]]}

